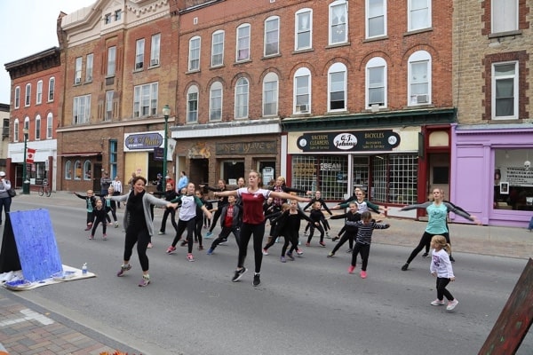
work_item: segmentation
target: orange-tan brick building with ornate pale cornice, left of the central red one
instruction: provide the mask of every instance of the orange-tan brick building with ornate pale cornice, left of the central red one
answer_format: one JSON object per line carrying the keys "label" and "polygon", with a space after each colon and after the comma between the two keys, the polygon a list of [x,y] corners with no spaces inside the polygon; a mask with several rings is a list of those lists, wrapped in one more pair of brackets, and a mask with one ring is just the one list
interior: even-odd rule
{"label": "orange-tan brick building with ornate pale cornice, left of the central red one", "polygon": [[163,166],[154,153],[164,142],[162,109],[176,97],[169,2],[98,0],[58,21],[66,63],[60,188],[99,191],[104,171],[123,184],[131,172],[154,181]]}

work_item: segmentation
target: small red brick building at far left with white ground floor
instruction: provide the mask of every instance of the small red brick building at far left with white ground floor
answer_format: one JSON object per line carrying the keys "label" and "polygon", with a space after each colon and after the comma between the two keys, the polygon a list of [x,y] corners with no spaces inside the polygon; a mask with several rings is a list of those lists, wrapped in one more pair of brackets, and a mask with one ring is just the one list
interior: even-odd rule
{"label": "small red brick building at far left with white ground floor", "polygon": [[30,188],[37,188],[34,186],[41,185],[44,178],[52,190],[58,187],[56,128],[62,99],[61,68],[58,47],[5,64],[12,79],[6,174],[17,188],[23,185],[25,136],[26,146],[36,150],[33,162],[26,164]]}

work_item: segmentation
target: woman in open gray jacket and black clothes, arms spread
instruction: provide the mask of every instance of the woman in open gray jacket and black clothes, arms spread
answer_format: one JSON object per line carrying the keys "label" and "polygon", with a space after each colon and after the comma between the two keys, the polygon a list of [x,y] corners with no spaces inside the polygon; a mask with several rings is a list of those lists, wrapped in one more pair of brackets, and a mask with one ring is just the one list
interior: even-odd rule
{"label": "woman in open gray jacket and black clothes, arms spread", "polygon": [[144,177],[132,177],[131,185],[133,188],[130,193],[122,196],[109,196],[111,200],[124,202],[125,205],[123,225],[126,231],[126,239],[124,241],[123,264],[116,276],[121,277],[131,269],[130,257],[133,246],[137,243],[137,254],[142,268],[142,280],[140,280],[139,286],[144,287],[150,283],[147,246],[150,242],[150,237],[154,235],[154,223],[152,222],[150,205],[175,209],[178,204],[158,199],[147,193],[145,190],[147,179]]}

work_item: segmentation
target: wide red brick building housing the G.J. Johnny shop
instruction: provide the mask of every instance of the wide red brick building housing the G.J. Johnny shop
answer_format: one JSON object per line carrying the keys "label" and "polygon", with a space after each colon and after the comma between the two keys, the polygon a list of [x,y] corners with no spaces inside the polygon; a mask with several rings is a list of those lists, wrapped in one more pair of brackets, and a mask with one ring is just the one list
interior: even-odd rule
{"label": "wide red brick building housing the G.J. Johnny shop", "polygon": [[448,190],[452,4],[374,3],[184,2],[171,130],[193,181],[255,169],[393,205]]}

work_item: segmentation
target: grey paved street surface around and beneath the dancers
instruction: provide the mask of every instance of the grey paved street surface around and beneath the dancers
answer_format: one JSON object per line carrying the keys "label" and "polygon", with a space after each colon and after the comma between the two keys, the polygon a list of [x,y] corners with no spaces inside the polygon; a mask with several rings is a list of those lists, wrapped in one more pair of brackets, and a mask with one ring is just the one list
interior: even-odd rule
{"label": "grey paved street surface around and beneath the dancers", "polygon": [[[393,227],[375,233],[367,280],[347,275],[347,255],[325,258],[332,246],[327,241],[328,248],[308,248],[305,257],[294,264],[277,261],[280,247],[276,245],[273,255],[265,258],[261,287],[251,287],[251,272],[243,282],[233,284],[228,279],[235,267],[235,245],[220,247],[211,257],[198,255],[197,263],[187,263],[182,250],[176,256],[164,255],[170,238],[163,236],[155,237],[155,248],[150,251],[154,284],[139,293],[139,270],[122,280],[109,272],[121,254],[118,230],[110,232],[118,238],[112,240],[111,236],[108,248],[102,250],[102,241],[86,241],[83,233],[76,232],[79,228],[72,228],[78,219],[83,222],[83,201],[68,193],[54,193],[49,199],[32,194],[18,196],[13,209],[51,203],[51,210],[58,211],[58,217],[52,217],[54,229],[65,233],[58,235],[60,249],[68,250],[68,255],[62,251],[64,264],[76,266],[98,254],[90,264],[99,277],[16,295],[0,289],[0,312],[8,318],[20,319],[20,311],[30,309],[61,328],[50,330],[51,326],[32,319],[17,326],[0,323],[0,343],[11,353],[29,353],[21,349],[29,344],[40,349],[39,345],[45,346],[51,339],[72,349],[61,353],[76,353],[77,349],[80,354],[119,347],[130,354],[233,355],[271,353],[269,349],[293,354],[417,354],[433,349],[437,339],[449,344],[449,354],[474,353],[533,251],[533,234],[525,229],[451,225],[456,273],[460,275],[453,290],[462,300],[456,317],[427,304],[434,297],[434,281],[427,277],[426,259],[415,260],[410,272],[399,271],[425,224],[398,219],[387,219]],[[160,213],[156,209],[156,221]],[[333,224],[333,230],[341,223]],[[138,264],[135,256],[132,260]],[[169,260],[171,270],[167,270]],[[247,264],[251,266],[252,257]],[[121,316],[109,321],[112,314]],[[439,330],[434,328],[435,316],[442,318]],[[144,332],[139,333],[139,325],[146,327]],[[46,336],[29,341],[36,333]],[[424,339],[422,344],[406,341],[415,336]],[[521,351],[532,351],[530,335],[525,343]]]}

